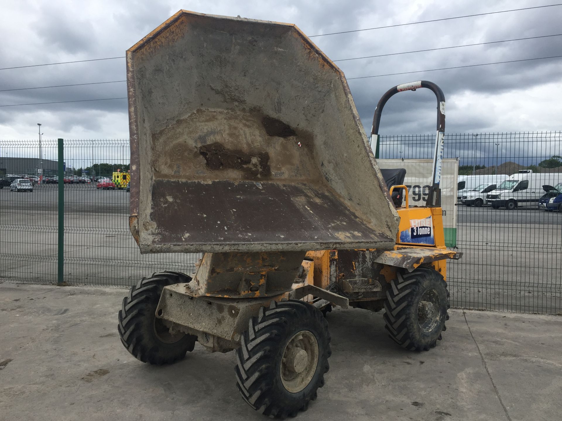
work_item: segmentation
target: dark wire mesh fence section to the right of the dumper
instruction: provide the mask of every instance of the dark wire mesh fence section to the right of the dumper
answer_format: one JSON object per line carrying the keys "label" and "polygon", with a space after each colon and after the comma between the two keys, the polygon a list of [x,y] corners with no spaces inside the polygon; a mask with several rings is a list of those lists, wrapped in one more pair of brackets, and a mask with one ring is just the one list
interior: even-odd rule
{"label": "dark wire mesh fence section to the right of the dumper", "polygon": [[[449,134],[444,157],[460,160],[459,175],[530,168],[562,182],[560,157],[552,158],[562,150],[561,138],[561,132]],[[432,158],[434,140],[434,134],[382,136],[380,158]],[[459,202],[457,211],[457,247],[464,255],[448,265],[452,306],[562,312],[562,213],[538,209],[537,202],[513,211]]]}

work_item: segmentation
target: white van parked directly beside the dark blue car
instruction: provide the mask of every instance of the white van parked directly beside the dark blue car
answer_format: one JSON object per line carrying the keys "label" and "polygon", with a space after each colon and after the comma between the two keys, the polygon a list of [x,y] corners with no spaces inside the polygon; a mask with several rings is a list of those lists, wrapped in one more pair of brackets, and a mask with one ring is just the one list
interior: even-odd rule
{"label": "white van parked directly beside the dark blue car", "polygon": [[555,186],[562,182],[562,173],[519,173],[502,182],[496,190],[486,195],[486,203],[492,208],[536,208],[545,194],[542,186]]}

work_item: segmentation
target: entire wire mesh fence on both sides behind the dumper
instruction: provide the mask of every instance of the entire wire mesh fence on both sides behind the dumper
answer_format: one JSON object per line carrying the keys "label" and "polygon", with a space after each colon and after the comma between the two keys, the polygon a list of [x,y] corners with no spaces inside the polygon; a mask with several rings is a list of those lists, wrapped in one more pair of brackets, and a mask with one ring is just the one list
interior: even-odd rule
{"label": "entire wire mesh fence on both sides behind the dumper", "polygon": [[[561,138],[561,132],[450,134],[445,158],[459,159],[460,176],[532,170],[550,177],[554,187],[562,182]],[[434,135],[382,136],[380,158],[431,158],[433,148]],[[40,149],[39,154],[38,141],[0,140],[0,279],[56,282],[60,182],[65,281],[127,286],[156,271],[193,271],[198,254],[139,253],[128,225],[128,139],[65,140],[62,181],[56,177],[56,140],[43,140]],[[24,176],[32,192],[11,186]],[[451,305],[562,312],[562,213],[538,207],[538,200],[556,196],[555,190],[540,186],[530,202],[509,210],[505,203],[488,205],[486,194],[484,203],[463,204],[473,187],[465,181],[457,202],[456,244],[464,255],[448,265]]]}

